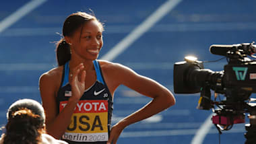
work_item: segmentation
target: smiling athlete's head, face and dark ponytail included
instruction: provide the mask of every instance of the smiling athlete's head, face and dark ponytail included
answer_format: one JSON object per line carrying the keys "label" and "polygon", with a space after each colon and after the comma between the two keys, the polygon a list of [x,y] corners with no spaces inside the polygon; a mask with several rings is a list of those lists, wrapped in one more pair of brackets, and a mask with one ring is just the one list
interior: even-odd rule
{"label": "smiling athlete's head, face and dark ponytail included", "polygon": [[[89,24],[88,24],[89,23]],[[96,29],[96,30],[94,30]],[[102,48],[102,32],[104,28],[96,17],[88,13],[77,12],[69,15],[63,24],[63,36],[57,44],[57,60],[59,66],[64,65],[71,59],[71,52],[74,55],[83,57],[83,50],[87,50],[94,57],[98,57],[100,48]],[[93,32],[96,32],[94,34]],[[92,34],[96,35],[92,39]],[[92,44],[92,48],[82,49],[82,46]],[[82,53],[80,53],[82,51]],[[94,58],[96,59],[96,58]]]}

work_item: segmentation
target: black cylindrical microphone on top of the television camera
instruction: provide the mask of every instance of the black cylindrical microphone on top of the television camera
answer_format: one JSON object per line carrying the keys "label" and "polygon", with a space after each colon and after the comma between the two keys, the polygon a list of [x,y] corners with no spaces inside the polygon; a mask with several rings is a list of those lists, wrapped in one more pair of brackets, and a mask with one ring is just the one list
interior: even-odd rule
{"label": "black cylindrical microphone on top of the television camera", "polygon": [[210,52],[214,55],[222,55],[226,56],[226,52],[232,49],[234,45],[226,45],[226,44],[213,44],[210,46]]}

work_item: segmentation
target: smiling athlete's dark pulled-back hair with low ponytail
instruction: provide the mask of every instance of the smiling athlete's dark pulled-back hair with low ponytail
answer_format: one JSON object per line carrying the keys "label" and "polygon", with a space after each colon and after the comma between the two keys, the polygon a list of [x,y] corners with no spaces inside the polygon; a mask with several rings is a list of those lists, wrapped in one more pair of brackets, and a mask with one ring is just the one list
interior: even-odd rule
{"label": "smiling athlete's dark pulled-back hair with low ponytail", "polygon": [[62,29],[63,38],[57,42],[56,46],[57,62],[59,66],[64,65],[71,59],[70,45],[65,41],[64,37],[73,36],[74,32],[78,29],[82,31],[82,26],[91,20],[96,20],[102,31],[104,30],[103,24],[100,23],[94,15],[78,11],[67,17]]}

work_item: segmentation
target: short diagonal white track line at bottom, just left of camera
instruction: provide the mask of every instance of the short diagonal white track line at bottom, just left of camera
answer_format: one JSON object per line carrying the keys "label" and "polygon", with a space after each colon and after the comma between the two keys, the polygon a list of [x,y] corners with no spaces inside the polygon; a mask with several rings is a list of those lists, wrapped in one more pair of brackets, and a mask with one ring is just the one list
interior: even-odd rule
{"label": "short diagonal white track line at bottom, just left of camera", "polygon": [[213,113],[208,116],[208,118],[203,122],[201,127],[197,130],[197,133],[195,133],[195,136],[193,137],[191,144],[201,144],[203,143],[203,139],[205,138],[205,135],[207,135],[211,129],[211,127],[214,125],[212,124],[212,118]]}

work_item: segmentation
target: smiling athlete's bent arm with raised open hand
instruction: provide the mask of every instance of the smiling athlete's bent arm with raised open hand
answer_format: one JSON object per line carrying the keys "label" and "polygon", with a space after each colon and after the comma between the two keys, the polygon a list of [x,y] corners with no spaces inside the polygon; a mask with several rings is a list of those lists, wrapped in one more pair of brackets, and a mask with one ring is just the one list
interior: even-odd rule
{"label": "smiling athlete's bent arm with raised open hand", "polygon": [[81,63],[69,72],[72,74],[72,77],[69,79],[72,96],[61,111],[57,110],[57,107],[61,106],[61,104],[57,104],[56,95],[60,86],[57,84],[57,81],[61,81],[63,69],[60,69],[60,67],[53,69],[40,77],[40,94],[42,106],[46,113],[46,131],[56,139],[61,139],[65,130],[69,127],[71,116],[77,106],[77,102],[84,94],[86,79],[84,68],[84,65]]}

